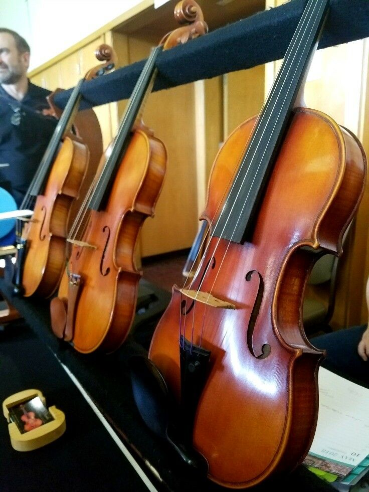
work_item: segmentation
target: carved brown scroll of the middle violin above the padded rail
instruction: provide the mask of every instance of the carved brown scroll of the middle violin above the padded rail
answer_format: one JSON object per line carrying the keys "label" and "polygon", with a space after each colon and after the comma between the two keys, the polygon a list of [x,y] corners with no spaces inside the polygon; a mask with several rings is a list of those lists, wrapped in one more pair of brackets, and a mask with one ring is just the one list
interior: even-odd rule
{"label": "carved brown scroll of the middle violin above the padded rail", "polygon": [[204,21],[203,12],[195,0],[182,0],[174,9],[174,18],[183,26],[166,34],[160,44],[167,50],[179,44],[185,44],[191,39],[207,34],[209,31]]}

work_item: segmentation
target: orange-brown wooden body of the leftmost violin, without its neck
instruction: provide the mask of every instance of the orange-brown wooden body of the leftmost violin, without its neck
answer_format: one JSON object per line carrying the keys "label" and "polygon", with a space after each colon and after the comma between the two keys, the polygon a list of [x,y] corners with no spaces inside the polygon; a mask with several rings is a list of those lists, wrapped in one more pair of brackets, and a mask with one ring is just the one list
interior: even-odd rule
{"label": "orange-brown wooden body of the leftmost violin, without its neck", "polygon": [[32,220],[26,224],[27,254],[23,267],[26,297],[50,297],[65,267],[67,223],[78,198],[89,161],[86,144],[65,137],[53,163],[45,193],[38,195]]}

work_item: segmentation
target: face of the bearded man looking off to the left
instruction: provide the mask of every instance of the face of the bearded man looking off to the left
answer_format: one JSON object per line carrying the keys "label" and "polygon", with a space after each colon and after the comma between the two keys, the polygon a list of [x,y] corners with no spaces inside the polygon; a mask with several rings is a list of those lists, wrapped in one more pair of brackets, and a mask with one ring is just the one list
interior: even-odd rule
{"label": "face of the bearded man looking off to the left", "polygon": [[15,39],[0,33],[0,84],[15,84],[27,74],[29,53],[19,53]]}

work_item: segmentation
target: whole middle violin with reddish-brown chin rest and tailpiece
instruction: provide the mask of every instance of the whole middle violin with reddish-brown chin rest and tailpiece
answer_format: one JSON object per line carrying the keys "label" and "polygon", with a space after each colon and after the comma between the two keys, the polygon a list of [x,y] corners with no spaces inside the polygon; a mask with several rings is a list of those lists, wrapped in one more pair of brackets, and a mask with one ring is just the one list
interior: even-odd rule
{"label": "whole middle violin with reddish-brown chin rest and tailpiece", "polygon": [[132,325],[142,274],[134,262],[136,240],[143,221],[154,214],[166,168],[164,144],[141,122],[142,103],[159,53],[207,32],[192,0],[177,4],[174,16],[188,25],[164,36],[152,50],[81,220],[68,238],[72,252],[58,297],[50,304],[51,322],[54,334],[82,353],[116,350]]}

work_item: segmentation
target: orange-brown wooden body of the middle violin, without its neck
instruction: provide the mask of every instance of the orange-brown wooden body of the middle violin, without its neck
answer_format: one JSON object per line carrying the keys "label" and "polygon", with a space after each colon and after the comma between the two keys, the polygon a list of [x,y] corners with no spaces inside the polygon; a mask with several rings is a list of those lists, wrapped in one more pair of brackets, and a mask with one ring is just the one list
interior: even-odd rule
{"label": "orange-brown wooden body of the middle violin, without its neck", "polygon": [[[98,347],[112,352],[129,333],[141,277],[134,263],[135,244],[143,221],[153,216],[165,167],[162,142],[143,130],[135,130],[106,207],[91,211],[83,236],[90,247],[73,245],[58,297],[68,303],[64,339],[72,339],[79,352],[92,352]],[[73,307],[68,296],[70,274],[81,280]],[[63,338],[63,334],[59,336]]]}

